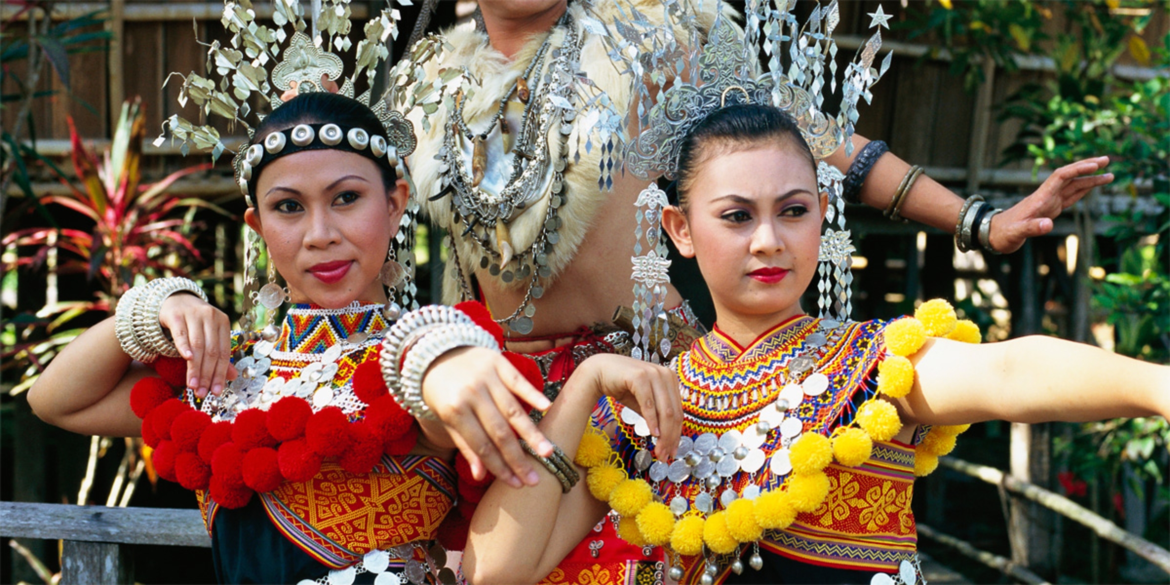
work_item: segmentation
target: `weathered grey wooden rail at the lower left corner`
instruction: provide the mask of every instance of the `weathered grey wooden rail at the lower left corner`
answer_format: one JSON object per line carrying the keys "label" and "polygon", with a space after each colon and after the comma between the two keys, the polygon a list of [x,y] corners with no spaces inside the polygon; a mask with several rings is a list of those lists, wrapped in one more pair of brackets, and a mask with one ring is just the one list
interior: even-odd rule
{"label": "weathered grey wooden rail at the lower left corner", "polygon": [[0,502],[0,535],[122,544],[212,545],[199,510]]}

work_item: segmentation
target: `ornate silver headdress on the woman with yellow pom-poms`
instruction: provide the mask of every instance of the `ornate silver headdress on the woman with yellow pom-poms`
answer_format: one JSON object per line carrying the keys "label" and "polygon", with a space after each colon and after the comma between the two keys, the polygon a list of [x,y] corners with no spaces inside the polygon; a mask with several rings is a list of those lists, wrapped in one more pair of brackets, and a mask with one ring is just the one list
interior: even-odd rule
{"label": "ornate silver headdress on the woman with yellow pom-poms", "polygon": [[[648,82],[639,89],[634,111],[642,131],[626,143],[625,170],[640,178],[661,174],[674,179],[687,135],[724,105],[768,104],[786,111],[796,119],[813,156],[821,160],[818,183],[830,194],[819,266],[820,314],[846,319],[852,311],[853,245],[845,229],[845,201],[840,197],[844,177],[823,159],[842,146],[852,153],[856,103],[873,97],[869,89],[889,68],[890,54],[880,69],[873,67],[881,47],[879,28],[844,69],[839,85],[837,43],[832,37],[840,21],[837,0],[818,4],[803,26],[793,13],[796,5],[797,0],[771,5],[749,0],[743,35],[722,13],[706,37],[697,30],[686,39],[677,37],[669,27],[651,26],[635,11],[627,22],[618,23],[617,34],[611,35],[611,57]],[[683,8],[679,0],[663,2],[663,11],[675,19]],[[870,28],[879,26],[886,26],[885,20],[874,18]],[[763,74],[757,62],[760,49],[769,57],[769,70]],[[783,55],[789,57],[787,69],[782,66]],[[668,80],[674,83],[661,90]],[[821,109],[824,94],[826,89],[837,92],[839,87],[840,109],[831,116]],[[645,257],[634,259],[635,266],[646,262]],[[645,284],[640,290],[646,290]],[[645,305],[654,304],[653,298],[645,301]]]}

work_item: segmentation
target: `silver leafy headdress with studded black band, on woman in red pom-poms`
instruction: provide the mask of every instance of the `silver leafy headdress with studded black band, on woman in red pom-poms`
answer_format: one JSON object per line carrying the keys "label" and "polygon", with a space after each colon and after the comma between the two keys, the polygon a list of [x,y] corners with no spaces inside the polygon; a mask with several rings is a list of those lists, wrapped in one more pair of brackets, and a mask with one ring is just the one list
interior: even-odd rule
{"label": "silver leafy headdress with studded black band, on woman in red pom-poms", "polygon": [[[250,0],[225,0],[223,14],[220,21],[230,34],[227,44],[219,41],[206,44],[207,71],[204,77],[191,73],[181,75],[183,87],[179,90],[179,105],[193,102],[200,108],[204,118],[220,116],[232,125],[242,125],[248,138],[253,138],[266,113],[253,109],[255,97],[266,104],[269,111],[283,104],[282,95],[295,90],[297,94],[322,91],[326,83],[340,83],[338,92],[355,98],[358,83],[367,85],[356,99],[378,117],[383,125],[380,135],[372,135],[363,129],[340,128],[337,124],[300,124],[292,129],[273,132],[263,144],[245,144],[235,153],[233,170],[236,184],[245,195],[254,187],[254,178],[259,168],[277,157],[301,150],[339,149],[356,152],[374,159],[379,164],[393,167],[399,178],[404,178],[404,166],[400,157],[410,154],[415,145],[413,126],[401,112],[390,108],[381,96],[374,97],[374,76],[378,66],[390,56],[386,42],[398,36],[399,14],[397,9],[386,8],[373,14],[363,27],[364,39],[355,43],[350,40],[352,29],[352,11],[350,0],[321,0],[319,9],[305,21],[305,11],[300,0],[274,0],[274,27],[256,21],[256,11]],[[344,76],[342,58],[331,53],[353,50],[355,69]],[[419,62],[406,62],[402,68],[391,71],[391,78],[410,76],[420,67]],[[411,68],[414,68],[413,70]],[[364,80],[363,80],[364,77]],[[432,97],[427,88],[419,88],[412,95],[412,102],[424,103]],[[154,142],[160,145],[170,131],[172,139],[179,140],[180,151],[187,154],[191,146],[211,150],[213,159],[219,158],[226,146],[219,131],[211,124],[195,124],[174,115],[163,123],[164,135]],[[252,201],[249,201],[249,205]],[[418,202],[411,198],[394,242],[391,245],[387,267],[384,267],[384,283],[390,287],[392,305],[400,301],[407,308],[415,308],[417,292],[413,280],[414,223],[418,214]],[[250,230],[246,233],[249,240],[246,246],[245,288],[254,289],[255,271],[252,270],[260,255],[259,236]],[[287,289],[274,281],[269,270],[270,282],[253,290],[250,298],[259,304],[274,309],[287,298]],[[253,316],[243,319],[246,328],[252,325]]]}

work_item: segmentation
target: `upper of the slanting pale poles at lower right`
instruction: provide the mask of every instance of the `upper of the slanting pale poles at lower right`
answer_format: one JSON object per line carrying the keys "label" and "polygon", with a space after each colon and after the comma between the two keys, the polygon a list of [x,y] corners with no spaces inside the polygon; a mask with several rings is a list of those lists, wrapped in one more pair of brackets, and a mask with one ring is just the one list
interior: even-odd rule
{"label": "upper of the slanting pale poles at lower right", "polygon": [[993,467],[979,466],[955,457],[941,457],[938,462],[944,467],[972,477],[978,477],[987,483],[1003,486],[1013,494],[1019,494],[1027,500],[1054,510],[1074,522],[1088,526],[1101,538],[1116,543],[1126,550],[1129,550],[1155,564],[1158,569],[1162,569],[1166,573],[1170,573],[1170,551],[1151,543],[1150,541],[1147,541],[1145,538],[1127,532],[1117,524],[1109,522],[1108,519],[1094,514],[1093,510],[1089,510],[1088,508],[1085,508],[1065,496],[1012,477]]}

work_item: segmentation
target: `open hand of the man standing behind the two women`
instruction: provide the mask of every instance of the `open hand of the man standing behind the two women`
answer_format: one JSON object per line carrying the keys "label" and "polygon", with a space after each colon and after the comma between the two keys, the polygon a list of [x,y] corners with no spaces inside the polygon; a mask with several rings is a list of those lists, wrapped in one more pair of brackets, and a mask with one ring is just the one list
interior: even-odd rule
{"label": "open hand of the man standing behind the two women", "polygon": [[1060,212],[1089,190],[1113,181],[1113,173],[1094,174],[1108,164],[1109,157],[1096,157],[1057,168],[1034,193],[991,218],[991,247],[1006,254],[1018,250],[1028,238],[1052,232],[1052,220]]}

